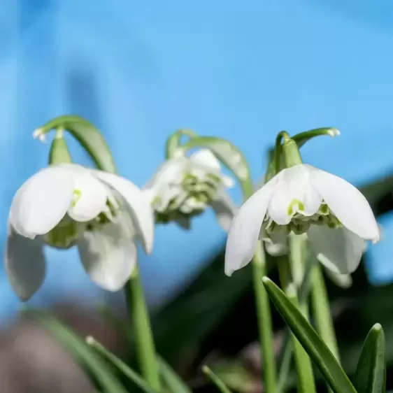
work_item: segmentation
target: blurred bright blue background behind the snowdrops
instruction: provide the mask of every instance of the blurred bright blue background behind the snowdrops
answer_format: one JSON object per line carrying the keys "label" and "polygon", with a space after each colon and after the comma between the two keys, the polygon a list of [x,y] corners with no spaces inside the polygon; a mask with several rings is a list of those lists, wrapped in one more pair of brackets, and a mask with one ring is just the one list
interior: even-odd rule
{"label": "blurred bright blue background behind the snowdrops", "polygon": [[[180,127],[243,150],[257,180],[276,133],[333,126],[303,159],[355,185],[393,167],[393,3],[389,0],[0,0],[0,238],[17,187],[44,166],[33,129],[76,113],[102,129],[120,173],[143,185]],[[73,144],[75,145],[75,144]],[[84,159],[76,147],[75,157]],[[240,201],[238,190],[234,198]],[[393,220],[373,246],[374,283],[393,278]],[[141,257],[152,304],[162,303],[222,245],[207,213],[191,233],[158,227]],[[103,296],[75,250],[48,251],[34,303]],[[224,273],[223,273],[224,274]],[[18,301],[0,277],[2,317]]]}

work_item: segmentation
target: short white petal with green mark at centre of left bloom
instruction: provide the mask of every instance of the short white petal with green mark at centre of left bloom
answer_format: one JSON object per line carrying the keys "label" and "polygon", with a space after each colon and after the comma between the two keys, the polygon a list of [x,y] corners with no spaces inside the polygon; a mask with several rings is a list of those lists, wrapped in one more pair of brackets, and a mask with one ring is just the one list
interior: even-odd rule
{"label": "short white petal with green mark at centre of left bloom", "polygon": [[90,171],[74,171],[75,197],[68,210],[69,216],[79,222],[93,220],[106,210],[108,190]]}

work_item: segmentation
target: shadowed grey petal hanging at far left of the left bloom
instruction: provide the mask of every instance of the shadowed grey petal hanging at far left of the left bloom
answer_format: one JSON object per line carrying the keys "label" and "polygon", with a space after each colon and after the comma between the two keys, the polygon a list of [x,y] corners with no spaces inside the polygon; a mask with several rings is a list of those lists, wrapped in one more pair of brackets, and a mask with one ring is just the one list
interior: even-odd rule
{"label": "shadowed grey petal hanging at far left of the left bloom", "polygon": [[9,225],[4,266],[17,296],[29,300],[45,278],[42,244],[17,234]]}

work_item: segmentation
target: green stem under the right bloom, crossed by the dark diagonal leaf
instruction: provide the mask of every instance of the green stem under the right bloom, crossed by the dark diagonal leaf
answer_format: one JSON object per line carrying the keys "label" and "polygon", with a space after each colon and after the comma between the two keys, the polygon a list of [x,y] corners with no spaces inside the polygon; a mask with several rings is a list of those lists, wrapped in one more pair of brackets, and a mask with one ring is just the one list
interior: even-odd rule
{"label": "green stem under the right bloom, crossed by the dark diagonal leaf", "polygon": [[[296,296],[296,288],[292,284],[289,260],[286,256],[278,258],[278,273],[280,275],[283,291],[292,300],[292,302],[299,307],[299,302]],[[298,376],[298,392],[316,393],[310,357],[308,357],[307,352],[303,349],[295,336],[293,334],[291,336],[294,344],[294,357]]]}

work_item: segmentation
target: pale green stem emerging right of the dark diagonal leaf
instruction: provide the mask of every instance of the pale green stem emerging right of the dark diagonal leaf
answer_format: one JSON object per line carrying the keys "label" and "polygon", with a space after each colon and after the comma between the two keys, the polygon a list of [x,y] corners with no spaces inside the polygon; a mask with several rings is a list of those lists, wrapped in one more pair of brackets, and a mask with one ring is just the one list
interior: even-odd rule
{"label": "pale green stem emerging right of the dark diagonal leaf", "polygon": [[[333,353],[338,362],[340,362],[336,332],[334,331],[326,285],[319,263],[315,264],[313,271],[311,271],[311,301],[317,332],[320,334],[324,343],[329,347],[331,353]],[[329,392],[331,392],[331,390],[329,390]]]}

